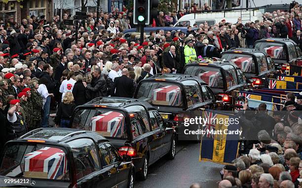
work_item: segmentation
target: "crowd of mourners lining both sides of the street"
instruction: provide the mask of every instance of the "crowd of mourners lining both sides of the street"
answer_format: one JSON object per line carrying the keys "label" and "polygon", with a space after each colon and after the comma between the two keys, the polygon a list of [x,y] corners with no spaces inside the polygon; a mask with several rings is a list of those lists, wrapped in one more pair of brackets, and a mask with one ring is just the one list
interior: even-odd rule
{"label": "crowd of mourners lining both sides of the street", "polygon": [[[159,12],[154,24],[171,26],[195,8],[196,4],[186,4],[178,12]],[[207,4],[200,8],[210,9]],[[185,64],[199,56],[220,57],[222,51],[252,47],[264,37],[292,38],[302,47],[299,4],[289,11],[266,12],[263,21],[243,24],[238,18],[229,23],[226,18],[215,25],[188,26],[187,32],[157,30],[147,33],[144,41],[122,33],[135,27],[132,12],[125,7],[96,16],[88,13],[77,40],[74,27],[63,24],[70,19],[68,14],[52,20],[33,15],[21,23],[12,16],[0,21],[0,150],[7,140],[48,127],[51,110],[56,110],[56,127],[69,127],[76,106],[96,97],[131,98],[140,80],[158,73],[182,73]],[[292,114],[301,109],[301,100],[298,97],[296,103],[293,94],[287,95],[284,108],[291,113],[281,118],[284,121],[263,114],[265,122],[270,121],[257,122],[263,124],[258,126],[258,142],[249,143],[247,156],[224,167],[220,188],[301,186],[302,122]],[[248,110],[245,105],[242,111]]]}

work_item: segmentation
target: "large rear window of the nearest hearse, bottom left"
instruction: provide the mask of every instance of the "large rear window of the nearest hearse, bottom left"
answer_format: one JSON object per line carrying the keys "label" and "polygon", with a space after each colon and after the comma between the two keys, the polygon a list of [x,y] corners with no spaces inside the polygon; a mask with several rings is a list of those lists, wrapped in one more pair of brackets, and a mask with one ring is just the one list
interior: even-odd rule
{"label": "large rear window of the nearest hearse, bottom left", "polygon": [[35,143],[6,145],[1,176],[69,181],[69,166],[64,149]]}

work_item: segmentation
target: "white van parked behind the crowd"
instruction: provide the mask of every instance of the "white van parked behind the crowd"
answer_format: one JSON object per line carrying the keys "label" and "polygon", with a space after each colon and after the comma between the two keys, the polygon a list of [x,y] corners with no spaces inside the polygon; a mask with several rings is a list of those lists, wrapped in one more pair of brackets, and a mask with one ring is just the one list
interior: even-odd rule
{"label": "white van parked behind the crowd", "polygon": [[226,22],[235,24],[238,21],[238,17],[241,17],[242,23],[259,20],[263,21],[262,13],[260,10],[234,10],[234,11],[222,11],[222,12],[204,12],[204,13],[192,13],[181,17],[174,27],[187,27],[192,26],[196,23],[204,24],[207,22],[209,26],[221,22],[226,19]]}

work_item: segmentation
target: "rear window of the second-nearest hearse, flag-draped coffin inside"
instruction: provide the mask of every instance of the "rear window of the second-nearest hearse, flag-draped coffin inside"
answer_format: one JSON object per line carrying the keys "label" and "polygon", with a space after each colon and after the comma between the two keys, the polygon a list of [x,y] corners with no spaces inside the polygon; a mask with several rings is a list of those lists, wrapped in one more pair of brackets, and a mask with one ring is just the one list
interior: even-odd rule
{"label": "rear window of the second-nearest hearse, flag-draped coffin inside", "polygon": [[76,111],[72,128],[95,131],[105,137],[127,138],[124,114],[110,109],[80,109]]}

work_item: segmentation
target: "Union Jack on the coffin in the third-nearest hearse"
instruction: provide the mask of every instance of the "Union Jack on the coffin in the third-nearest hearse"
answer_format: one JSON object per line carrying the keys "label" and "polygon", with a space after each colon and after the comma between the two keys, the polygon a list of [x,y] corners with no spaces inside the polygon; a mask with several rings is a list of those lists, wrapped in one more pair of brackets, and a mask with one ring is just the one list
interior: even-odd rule
{"label": "Union Jack on the coffin in the third-nearest hearse", "polygon": [[153,104],[154,101],[160,101],[162,104],[177,106],[181,103],[181,90],[177,85],[154,89],[152,99]]}

